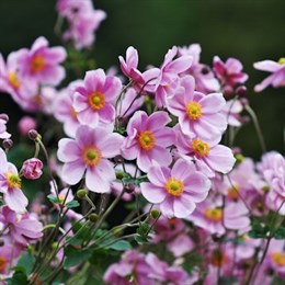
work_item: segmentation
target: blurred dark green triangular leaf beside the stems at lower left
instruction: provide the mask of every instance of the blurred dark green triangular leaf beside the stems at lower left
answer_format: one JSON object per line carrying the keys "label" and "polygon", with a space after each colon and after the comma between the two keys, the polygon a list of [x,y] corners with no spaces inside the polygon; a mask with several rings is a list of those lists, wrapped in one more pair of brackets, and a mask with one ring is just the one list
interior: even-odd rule
{"label": "blurred dark green triangular leaf beside the stems at lower left", "polygon": [[68,246],[65,249],[65,262],[64,267],[69,269],[71,266],[77,265],[80,262],[87,261],[92,256],[92,250],[90,249],[76,249],[71,246]]}

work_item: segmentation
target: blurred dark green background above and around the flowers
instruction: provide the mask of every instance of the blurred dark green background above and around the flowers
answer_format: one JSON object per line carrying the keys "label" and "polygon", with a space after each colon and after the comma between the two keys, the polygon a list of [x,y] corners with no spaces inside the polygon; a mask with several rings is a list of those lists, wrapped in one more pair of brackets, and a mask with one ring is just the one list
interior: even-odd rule
{"label": "blurred dark green background above and around the flowers", "polygon": [[[80,0],[78,0],[80,1]],[[82,0],[81,0],[82,1]],[[61,44],[54,34],[57,19],[55,0],[0,0],[0,52],[7,56],[30,47],[44,35],[50,45]],[[267,76],[254,70],[254,61],[285,56],[284,0],[95,0],[107,13],[96,33],[92,57],[98,67],[118,66],[118,55],[129,45],[139,50],[141,70],[159,66],[173,45],[202,45],[202,62],[212,65],[219,55],[239,58],[250,80],[249,99],[255,110],[267,149],[284,153],[285,89],[253,93],[253,86]],[[7,96],[0,98],[1,112],[9,113],[13,125],[21,115]],[[237,137],[244,155],[259,158],[260,146],[252,124]]]}

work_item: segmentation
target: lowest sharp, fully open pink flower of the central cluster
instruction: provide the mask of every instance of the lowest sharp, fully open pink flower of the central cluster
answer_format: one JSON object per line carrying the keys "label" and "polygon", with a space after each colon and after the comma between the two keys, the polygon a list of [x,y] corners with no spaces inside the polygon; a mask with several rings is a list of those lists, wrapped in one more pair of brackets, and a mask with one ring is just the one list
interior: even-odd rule
{"label": "lowest sharp, fully open pink flower of the central cluster", "polygon": [[182,159],[172,169],[153,163],[148,170],[150,182],[142,182],[141,194],[147,201],[159,204],[161,214],[171,218],[185,218],[204,201],[210,181],[197,172],[194,164]]}

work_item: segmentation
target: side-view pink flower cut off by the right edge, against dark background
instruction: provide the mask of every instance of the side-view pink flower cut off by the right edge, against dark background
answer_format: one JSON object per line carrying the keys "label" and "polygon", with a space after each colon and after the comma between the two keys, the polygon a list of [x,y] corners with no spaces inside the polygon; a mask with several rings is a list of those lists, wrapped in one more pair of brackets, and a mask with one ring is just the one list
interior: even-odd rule
{"label": "side-view pink flower cut off by the right edge, against dark background", "polygon": [[255,92],[261,92],[263,89],[272,84],[274,88],[285,87],[285,58],[281,58],[277,62],[273,60],[263,60],[253,64],[258,70],[272,72],[261,83],[254,87]]}

